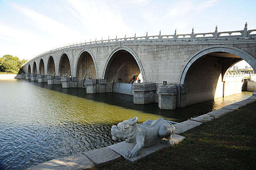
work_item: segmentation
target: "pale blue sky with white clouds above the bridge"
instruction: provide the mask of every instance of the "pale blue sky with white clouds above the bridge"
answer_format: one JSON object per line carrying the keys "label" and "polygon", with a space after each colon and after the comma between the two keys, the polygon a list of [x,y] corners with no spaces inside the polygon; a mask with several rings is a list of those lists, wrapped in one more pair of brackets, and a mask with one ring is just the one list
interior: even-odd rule
{"label": "pale blue sky with white clouds above the bridge", "polygon": [[256,29],[256,0],[0,0],[0,57],[77,42]]}

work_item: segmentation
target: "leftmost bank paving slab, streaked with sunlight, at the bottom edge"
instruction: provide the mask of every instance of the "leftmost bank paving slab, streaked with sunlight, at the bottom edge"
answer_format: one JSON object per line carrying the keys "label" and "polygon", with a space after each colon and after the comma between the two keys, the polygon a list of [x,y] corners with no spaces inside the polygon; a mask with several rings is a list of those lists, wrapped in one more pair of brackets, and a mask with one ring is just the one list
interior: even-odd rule
{"label": "leftmost bank paving slab, streaked with sunlight, at the bottom edge", "polygon": [[86,170],[93,167],[93,163],[82,153],[57,158],[29,168],[28,170]]}

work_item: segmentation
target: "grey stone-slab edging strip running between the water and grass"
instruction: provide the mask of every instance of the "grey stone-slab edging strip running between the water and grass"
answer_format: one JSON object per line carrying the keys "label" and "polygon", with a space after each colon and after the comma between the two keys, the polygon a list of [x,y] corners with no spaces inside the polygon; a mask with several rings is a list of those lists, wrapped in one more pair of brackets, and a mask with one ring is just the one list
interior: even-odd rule
{"label": "grey stone-slab edging strip running between the water and grass", "polygon": [[[176,127],[175,134],[176,135],[173,137],[173,144],[165,145],[164,147],[162,146],[158,150],[163,149],[165,147],[171,147],[174,144],[177,144],[180,141],[182,141],[184,139],[184,137],[181,136],[182,138],[180,138],[180,136],[178,134],[181,134],[187,130],[193,129],[194,127],[199,126],[202,123],[211,121],[213,119],[218,119],[218,118],[222,117],[223,115],[233,112],[233,111],[237,110],[238,108],[246,106],[247,104],[252,103],[252,102],[256,102],[256,92],[254,92],[250,98],[245,99],[243,101],[227,105],[225,107],[222,107],[218,110],[201,115],[199,117],[191,118],[191,119],[188,119],[181,123],[175,124],[175,127]],[[180,138],[180,140],[177,140],[177,138]],[[123,143],[123,142],[121,142],[121,143]],[[121,143],[118,143],[118,144],[121,144]],[[118,144],[114,144],[114,145],[118,145]],[[67,157],[63,157],[63,158],[53,159],[48,162],[44,162],[44,163],[41,163],[34,167],[31,167],[27,170],[45,170],[45,169],[51,169],[51,170],[60,170],[60,169],[61,170],[63,170],[63,169],[65,169],[65,170],[71,170],[71,169],[72,170],[81,170],[81,169],[83,169],[84,170],[84,169],[89,169],[89,168],[99,166],[99,165],[104,165],[104,164],[106,165],[113,161],[120,160],[122,158],[122,156],[120,154],[118,154],[110,149],[114,145],[110,145],[108,147],[95,149],[95,150],[91,150],[91,151],[87,151],[87,152],[73,154],[71,156],[67,156]],[[152,147],[154,147],[154,146],[152,146]],[[145,148],[145,149],[150,150],[150,148],[152,148],[152,147]],[[158,151],[158,150],[154,150],[154,152]],[[144,156],[140,156],[138,159],[140,159],[141,157],[144,157]],[[126,158],[126,157],[123,157],[123,158]],[[138,159],[136,159],[136,160],[138,160]]]}

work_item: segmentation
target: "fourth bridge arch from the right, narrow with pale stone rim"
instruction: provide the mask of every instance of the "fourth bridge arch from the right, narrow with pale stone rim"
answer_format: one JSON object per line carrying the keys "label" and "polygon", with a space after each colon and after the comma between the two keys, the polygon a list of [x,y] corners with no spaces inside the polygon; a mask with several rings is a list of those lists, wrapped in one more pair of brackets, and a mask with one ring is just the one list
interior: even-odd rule
{"label": "fourth bridge arch from the right, narrow with pale stone rim", "polygon": [[70,57],[66,51],[63,51],[60,55],[58,62],[58,75],[70,77],[73,74]]}

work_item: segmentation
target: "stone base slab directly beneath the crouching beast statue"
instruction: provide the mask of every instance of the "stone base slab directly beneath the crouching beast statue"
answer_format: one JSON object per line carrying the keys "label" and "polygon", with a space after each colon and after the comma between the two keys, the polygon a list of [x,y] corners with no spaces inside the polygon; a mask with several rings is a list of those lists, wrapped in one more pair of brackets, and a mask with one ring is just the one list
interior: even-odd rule
{"label": "stone base slab directly beneath the crouching beast statue", "polygon": [[108,146],[108,148],[110,148],[111,150],[115,151],[116,153],[122,155],[123,158],[131,161],[131,162],[135,162],[138,161],[140,158],[146,157],[147,155],[154,153],[160,149],[163,149],[165,147],[171,147],[174,144],[179,143],[180,141],[182,141],[185,137],[184,136],[179,136],[174,134],[172,137],[172,141],[171,144],[167,145],[167,144],[163,144],[163,143],[157,143],[153,146],[147,147],[147,148],[142,148],[140,150],[140,152],[138,153],[137,156],[132,157],[132,158],[128,158],[125,156],[125,154],[128,151],[131,151],[133,149],[133,147],[135,146],[134,143],[127,143],[127,142],[120,142],[114,145],[110,145]]}

